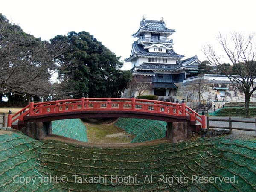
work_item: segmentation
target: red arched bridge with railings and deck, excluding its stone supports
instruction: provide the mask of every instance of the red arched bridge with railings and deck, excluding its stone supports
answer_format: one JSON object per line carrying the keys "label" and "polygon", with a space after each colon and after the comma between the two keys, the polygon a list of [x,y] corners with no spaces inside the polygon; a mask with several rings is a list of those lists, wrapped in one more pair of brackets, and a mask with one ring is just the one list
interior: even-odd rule
{"label": "red arched bridge with railings and deck, excluding its stone supports", "polygon": [[14,115],[9,113],[8,126],[21,129],[26,127],[28,122],[45,123],[60,119],[96,117],[187,122],[191,131],[200,131],[206,127],[204,114],[199,115],[186,106],[184,99],[180,104],[135,98],[85,97],[39,103],[34,103],[32,99],[29,105]]}

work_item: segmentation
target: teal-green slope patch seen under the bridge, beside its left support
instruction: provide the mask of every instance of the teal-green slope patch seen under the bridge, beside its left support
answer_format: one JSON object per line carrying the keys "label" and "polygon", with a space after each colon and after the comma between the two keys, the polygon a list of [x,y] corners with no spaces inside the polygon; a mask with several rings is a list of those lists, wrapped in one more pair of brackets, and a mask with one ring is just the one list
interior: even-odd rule
{"label": "teal-green slope patch seen under the bridge, beside its left support", "polygon": [[86,126],[81,119],[52,121],[52,133],[71,139],[88,142]]}

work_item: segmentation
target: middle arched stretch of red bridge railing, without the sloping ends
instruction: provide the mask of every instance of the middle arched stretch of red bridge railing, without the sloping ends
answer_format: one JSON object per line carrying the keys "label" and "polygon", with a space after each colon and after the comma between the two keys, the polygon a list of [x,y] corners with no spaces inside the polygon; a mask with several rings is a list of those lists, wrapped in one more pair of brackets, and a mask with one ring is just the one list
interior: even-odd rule
{"label": "middle arched stretch of red bridge railing, without the sloping ends", "polygon": [[125,98],[85,98],[66,99],[53,102],[42,102],[34,105],[30,116],[68,112],[76,110],[142,110],[148,112],[173,113],[182,116],[182,105],[177,103],[152,101],[145,99],[125,99]]}

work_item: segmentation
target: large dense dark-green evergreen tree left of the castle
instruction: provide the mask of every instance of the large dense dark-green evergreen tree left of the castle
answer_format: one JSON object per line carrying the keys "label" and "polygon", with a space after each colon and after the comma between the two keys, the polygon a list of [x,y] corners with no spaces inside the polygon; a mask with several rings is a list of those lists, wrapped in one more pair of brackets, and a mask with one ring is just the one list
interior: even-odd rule
{"label": "large dense dark-green evergreen tree left of the castle", "polygon": [[88,32],[70,32],[67,36],[57,35],[52,44],[65,42],[70,50],[61,55],[59,63],[69,61],[69,70],[61,70],[59,78],[70,78],[75,89],[90,97],[119,97],[131,81],[131,72],[122,71],[122,61],[113,52],[97,41]]}

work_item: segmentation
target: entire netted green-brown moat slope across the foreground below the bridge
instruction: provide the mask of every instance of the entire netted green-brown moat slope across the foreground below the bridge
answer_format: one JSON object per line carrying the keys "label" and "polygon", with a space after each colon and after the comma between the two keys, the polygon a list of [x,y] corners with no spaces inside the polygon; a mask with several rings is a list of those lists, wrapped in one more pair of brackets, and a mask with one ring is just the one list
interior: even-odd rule
{"label": "entire netted green-brown moat slope across the foreground below the bridge", "polygon": [[[147,147],[94,148],[53,140],[39,142],[23,134],[12,133],[0,135],[0,191],[253,192],[256,190],[255,160],[255,140],[214,137]],[[34,178],[65,175],[68,182],[25,185],[15,183],[14,175]],[[100,183],[75,183],[73,175],[102,175],[107,179]],[[111,182],[112,175],[131,175],[137,180],[136,183],[119,183],[115,179]],[[147,175],[155,175],[155,181],[144,183]],[[187,183],[180,180],[164,183],[159,182],[159,175],[189,179]],[[220,178],[234,176],[235,182],[192,182],[193,175]]]}

